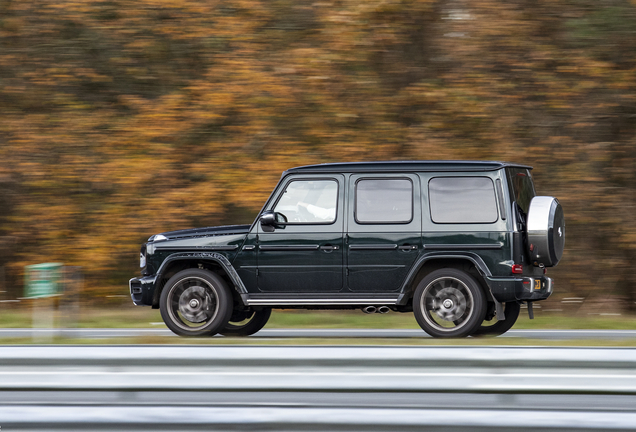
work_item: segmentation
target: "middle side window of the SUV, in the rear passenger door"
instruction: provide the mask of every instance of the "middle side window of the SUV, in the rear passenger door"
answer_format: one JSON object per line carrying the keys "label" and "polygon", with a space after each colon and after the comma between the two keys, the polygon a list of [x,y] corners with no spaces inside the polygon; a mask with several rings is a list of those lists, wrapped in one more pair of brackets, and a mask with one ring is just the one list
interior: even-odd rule
{"label": "middle side window of the SUV, in the rear passenger door", "polygon": [[406,179],[365,179],[356,184],[356,221],[408,223],[413,218],[413,183]]}

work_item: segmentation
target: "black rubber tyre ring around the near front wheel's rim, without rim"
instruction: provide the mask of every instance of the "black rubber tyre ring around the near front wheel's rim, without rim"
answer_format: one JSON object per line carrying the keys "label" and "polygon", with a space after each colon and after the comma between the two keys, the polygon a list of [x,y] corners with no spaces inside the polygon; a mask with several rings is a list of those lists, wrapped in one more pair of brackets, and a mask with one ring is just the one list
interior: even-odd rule
{"label": "black rubber tyre ring around the near front wheel's rim, without rim", "polygon": [[[176,322],[178,318],[173,317],[168,306],[168,298],[170,297],[171,292],[180,282],[189,278],[200,279],[209,284],[208,288],[216,297],[218,308],[216,315],[209,323],[201,327],[193,328],[192,330],[187,330],[180,326]],[[170,278],[170,280],[168,280],[161,291],[159,309],[163,321],[173,333],[179,336],[212,336],[218,333],[219,330],[227,324],[230,316],[232,315],[232,295],[225,281],[223,281],[223,279],[215,273],[202,269],[186,269],[175,274]]]}

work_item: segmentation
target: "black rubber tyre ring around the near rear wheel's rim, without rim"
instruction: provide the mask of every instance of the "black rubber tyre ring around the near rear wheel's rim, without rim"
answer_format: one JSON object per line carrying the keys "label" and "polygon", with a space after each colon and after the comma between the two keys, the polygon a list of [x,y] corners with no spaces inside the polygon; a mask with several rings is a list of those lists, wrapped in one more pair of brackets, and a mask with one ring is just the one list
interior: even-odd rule
{"label": "black rubber tyre ring around the near rear wheel's rim, without rim", "polygon": [[[429,284],[434,282],[440,278],[453,278],[462,282],[466,288],[470,291],[470,294],[473,297],[473,307],[471,311],[470,317],[467,319],[466,324],[461,326],[458,329],[454,330],[439,330],[436,327],[433,327],[425,318],[426,311],[423,310],[422,307],[422,296]],[[484,293],[479,285],[479,283],[468,273],[451,269],[451,268],[443,268],[439,270],[435,270],[429,273],[422,281],[418,284],[415,289],[415,293],[413,295],[413,314],[415,315],[415,319],[422,329],[428,333],[429,335],[437,338],[460,338],[466,337],[472,334],[475,329],[483,322],[484,316],[486,315],[486,300]]]}

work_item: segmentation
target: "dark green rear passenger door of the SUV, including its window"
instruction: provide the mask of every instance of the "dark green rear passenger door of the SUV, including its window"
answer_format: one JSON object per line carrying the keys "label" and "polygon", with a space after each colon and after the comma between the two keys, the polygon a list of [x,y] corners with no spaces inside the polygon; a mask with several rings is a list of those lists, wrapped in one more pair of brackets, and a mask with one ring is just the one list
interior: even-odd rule
{"label": "dark green rear passenger door of the SUV, including its window", "polygon": [[346,237],[351,291],[400,289],[422,248],[420,196],[414,174],[351,175]]}

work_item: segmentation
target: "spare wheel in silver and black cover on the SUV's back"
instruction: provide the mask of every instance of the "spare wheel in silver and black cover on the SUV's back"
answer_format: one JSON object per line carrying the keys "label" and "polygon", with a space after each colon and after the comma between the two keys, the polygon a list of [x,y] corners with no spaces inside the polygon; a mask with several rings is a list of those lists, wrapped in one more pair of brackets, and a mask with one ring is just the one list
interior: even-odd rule
{"label": "spare wheel in silver and black cover on the SUV's back", "polygon": [[556,266],[565,246],[563,207],[554,197],[534,197],[528,210],[528,249],[532,263]]}

